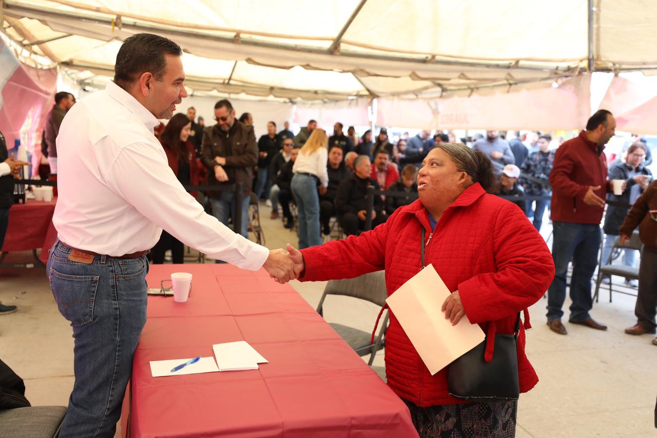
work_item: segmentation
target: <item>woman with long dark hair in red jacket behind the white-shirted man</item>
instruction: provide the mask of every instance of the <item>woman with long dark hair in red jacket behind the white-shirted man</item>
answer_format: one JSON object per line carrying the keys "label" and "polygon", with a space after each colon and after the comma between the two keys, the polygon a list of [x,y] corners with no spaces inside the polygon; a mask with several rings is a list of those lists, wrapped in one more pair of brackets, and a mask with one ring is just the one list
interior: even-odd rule
{"label": "woman with long dark hair in red jacket behind the white-shirted man", "polygon": [[[169,167],[182,185],[198,185],[198,162],[194,145],[188,141],[192,123],[185,114],[176,114],[167,123],[160,135],[160,143],[169,161]],[[189,192],[196,196],[196,192]],[[185,246],[183,242],[162,230],[160,240],[152,249],[153,263],[164,263],[164,253],[171,250],[173,263],[185,263]]]}

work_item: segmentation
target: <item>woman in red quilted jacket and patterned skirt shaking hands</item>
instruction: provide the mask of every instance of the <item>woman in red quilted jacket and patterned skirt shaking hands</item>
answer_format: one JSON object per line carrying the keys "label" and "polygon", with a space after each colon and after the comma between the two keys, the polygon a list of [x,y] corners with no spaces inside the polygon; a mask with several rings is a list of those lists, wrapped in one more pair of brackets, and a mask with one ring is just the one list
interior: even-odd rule
{"label": "woman in red quilted jacket and patterned skirt shaking hands", "polygon": [[[397,209],[359,237],[288,251],[302,281],[351,278],[386,271],[388,294],[420,271],[421,230],[426,264],[453,291],[445,318],[467,315],[487,338],[512,334],[518,312],[525,322],[518,337],[520,391],[538,382],[525,355],[526,309],[543,296],[554,276],[551,254],[518,206],[488,194],[495,184],[491,162],[464,144],[443,143],[429,152],[418,175],[419,200]],[[487,343],[486,358],[494,345]],[[388,385],[405,401],[422,437],[515,435],[517,401],[464,403],[447,391],[447,368],[432,376],[394,313],[386,334]]]}

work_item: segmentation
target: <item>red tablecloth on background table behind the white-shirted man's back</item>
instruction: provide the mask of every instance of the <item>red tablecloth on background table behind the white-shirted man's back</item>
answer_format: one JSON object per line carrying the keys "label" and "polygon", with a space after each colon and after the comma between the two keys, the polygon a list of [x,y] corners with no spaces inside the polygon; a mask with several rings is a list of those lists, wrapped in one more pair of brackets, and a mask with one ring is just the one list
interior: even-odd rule
{"label": "red tablecloth on background table behind the white-shirted man's back", "polygon": [[41,248],[39,259],[48,261],[48,250],[57,240],[53,213],[57,198],[51,202],[28,199],[25,204],[14,204],[9,209],[9,226],[3,252],[29,251]]}

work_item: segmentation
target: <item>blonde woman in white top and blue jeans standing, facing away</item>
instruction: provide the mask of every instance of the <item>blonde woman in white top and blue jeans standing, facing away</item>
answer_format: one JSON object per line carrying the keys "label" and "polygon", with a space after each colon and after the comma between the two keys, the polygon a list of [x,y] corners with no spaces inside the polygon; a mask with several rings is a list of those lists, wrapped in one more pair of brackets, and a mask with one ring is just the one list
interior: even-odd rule
{"label": "blonde woman in white top and blue jeans standing, facing away", "polygon": [[319,230],[319,194],[325,194],[328,187],[327,160],[327,133],[324,129],[314,129],[292,167],[294,177],[290,188],[299,212],[299,248],[322,243]]}

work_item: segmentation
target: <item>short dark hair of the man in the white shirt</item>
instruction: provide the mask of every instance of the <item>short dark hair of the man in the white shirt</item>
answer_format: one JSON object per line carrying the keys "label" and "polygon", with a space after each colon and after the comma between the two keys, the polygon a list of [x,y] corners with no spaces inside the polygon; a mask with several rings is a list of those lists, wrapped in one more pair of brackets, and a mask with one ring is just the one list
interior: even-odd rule
{"label": "short dark hair of the man in the white shirt", "polygon": [[127,37],[116,54],[114,83],[125,89],[146,72],[161,81],[166,73],[166,55],[182,56],[183,51],[160,35],[137,33]]}

